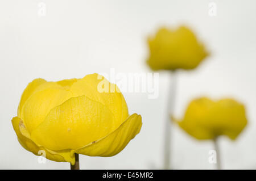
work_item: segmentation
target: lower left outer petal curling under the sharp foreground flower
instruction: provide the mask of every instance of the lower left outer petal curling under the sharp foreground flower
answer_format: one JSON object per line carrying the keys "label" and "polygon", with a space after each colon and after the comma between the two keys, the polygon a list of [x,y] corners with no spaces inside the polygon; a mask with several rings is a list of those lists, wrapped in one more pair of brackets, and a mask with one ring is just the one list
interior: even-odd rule
{"label": "lower left outer petal curling under the sharp foreground flower", "polygon": [[[52,161],[75,163],[75,157],[71,157],[71,154],[68,151],[60,151],[59,154],[54,151],[47,150],[43,147],[37,146],[32,140],[28,138],[30,137],[29,135],[24,136],[22,133],[28,132],[26,131],[26,127],[24,127],[24,125],[22,124],[22,120],[19,119],[19,117],[14,117],[11,122],[13,124],[14,131],[16,132],[16,135],[18,137],[18,141],[24,149],[31,151],[35,155],[41,155],[44,151],[46,158],[51,159]],[[22,129],[22,132],[20,132],[20,129]]]}

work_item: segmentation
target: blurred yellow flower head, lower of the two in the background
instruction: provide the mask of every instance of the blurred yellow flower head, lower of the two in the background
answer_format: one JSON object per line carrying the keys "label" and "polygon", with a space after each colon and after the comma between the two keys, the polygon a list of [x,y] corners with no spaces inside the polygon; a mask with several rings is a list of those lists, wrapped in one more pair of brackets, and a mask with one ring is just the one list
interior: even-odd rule
{"label": "blurred yellow flower head, lower of the two in the background", "polygon": [[183,120],[175,121],[185,132],[199,140],[214,139],[221,135],[235,140],[247,124],[245,107],[233,99],[192,100]]}

